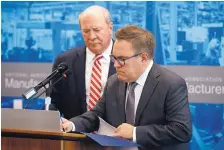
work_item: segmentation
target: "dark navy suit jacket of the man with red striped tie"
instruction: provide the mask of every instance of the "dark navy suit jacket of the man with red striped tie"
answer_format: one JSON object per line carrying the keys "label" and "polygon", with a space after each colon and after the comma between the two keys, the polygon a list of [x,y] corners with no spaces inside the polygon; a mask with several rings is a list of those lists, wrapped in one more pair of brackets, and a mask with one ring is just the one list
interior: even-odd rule
{"label": "dark navy suit jacket of the man with red striped tie", "polygon": [[[71,74],[66,79],[55,84],[50,93],[51,107],[58,109],[65,118],[70,119],[86,112],[85,65],[86,47],[68,50],[57,56],[53,70],[61,63],[66,62]],[[108,77],[116,72],[111,62]]]}

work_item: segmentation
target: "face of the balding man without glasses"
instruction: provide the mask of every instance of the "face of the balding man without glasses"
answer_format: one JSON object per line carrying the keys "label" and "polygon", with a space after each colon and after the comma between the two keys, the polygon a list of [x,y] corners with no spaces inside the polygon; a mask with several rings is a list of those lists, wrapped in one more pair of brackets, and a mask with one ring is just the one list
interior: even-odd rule
{"label": "face of the balding man without glasses", "polygon": [[80,26],[86,46],[94,54],[103,53],[111,41],[112,23],[107,24],[103,14],[93,14],[82,17]]}

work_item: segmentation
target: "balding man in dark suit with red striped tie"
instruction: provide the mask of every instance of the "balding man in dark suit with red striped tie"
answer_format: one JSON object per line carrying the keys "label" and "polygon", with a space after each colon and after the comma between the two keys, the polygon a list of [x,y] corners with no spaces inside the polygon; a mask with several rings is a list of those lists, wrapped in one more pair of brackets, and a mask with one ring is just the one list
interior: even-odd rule
{"label": "balding man in dark suit with red striped tie", "polygon": [[[79,16],[85,46],[68,50],[57,56],[53,70],[61,63],[66,62],[72,72],[66,79],[53,86],[50,93],[51,110],[59,110],[65,118],[70,119],[91,109],[90,105],[91,83],[93,66],[96,59],[97,67],[100,64],[100,73],[97,83],[99,85],[98,100],[106,84],[107,78],[116,72],[113,62],[110,61],[112,52],[113,23],[109,11],[100,6],[90,6]],[[55,80],[56,81],[56,80]]]}

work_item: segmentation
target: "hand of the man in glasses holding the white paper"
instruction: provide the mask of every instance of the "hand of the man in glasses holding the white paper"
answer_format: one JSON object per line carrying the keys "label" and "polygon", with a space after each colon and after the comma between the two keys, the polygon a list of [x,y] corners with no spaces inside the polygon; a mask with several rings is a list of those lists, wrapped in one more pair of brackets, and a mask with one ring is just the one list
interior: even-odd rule
{"label": "hand of the man in glasses holding the white paper", "polygon": [[134,130],[134,126],[127,124],[127,123],[122,123],[115,129],[114,136],[132,140],[133,130]]}

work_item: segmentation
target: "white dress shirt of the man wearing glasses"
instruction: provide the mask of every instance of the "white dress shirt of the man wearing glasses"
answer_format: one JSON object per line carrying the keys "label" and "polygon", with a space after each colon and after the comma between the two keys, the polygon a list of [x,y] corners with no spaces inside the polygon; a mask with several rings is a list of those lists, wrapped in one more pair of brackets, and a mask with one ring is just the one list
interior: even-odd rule
{"label": "white dress shirt of the man wearing glasses", "polygon": [[[145,81],[148,77],[148,74],[152,68],[152,65],[153,65],[153,60],[150,61],[148,67],[146,68],[146,70],[143,72],[143,74],[135,81],[137,83],[135,89],[134,89],[134,92],[135,92],[135,116],[136,116],[136,110],[137,110],[137,107],[138,107],[138,103],[139,103],[139,100],[140,100],[140,97],[142,95],[142,90],[143,90],[143,87],[145,85]],[[128,84],[129,86],[129,84]],[[126,100],[125,100],[125,106],[126,106],[126,103],[127,103],[127,98],[128,98],[128,89],[127,88],[127,91],[126,91]],[[125,107],[126,109],[126,107]],[[126,110],[125,110],[126,111]],[[133,131],[133,142],[136,142],[136,127],[134,127],[134,131]]]}

